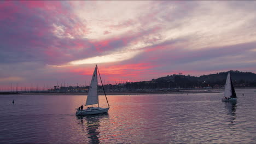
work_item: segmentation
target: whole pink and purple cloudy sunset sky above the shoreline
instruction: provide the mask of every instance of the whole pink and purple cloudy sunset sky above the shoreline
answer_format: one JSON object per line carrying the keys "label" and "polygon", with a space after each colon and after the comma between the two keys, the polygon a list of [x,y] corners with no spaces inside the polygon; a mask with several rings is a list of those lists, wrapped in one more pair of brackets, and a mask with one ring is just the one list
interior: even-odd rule
{"label": "whole pink and purple cloudy sunset sky above the shoreline", "polygon": [[256,73],[256,1],[0,1],[0,86]]}

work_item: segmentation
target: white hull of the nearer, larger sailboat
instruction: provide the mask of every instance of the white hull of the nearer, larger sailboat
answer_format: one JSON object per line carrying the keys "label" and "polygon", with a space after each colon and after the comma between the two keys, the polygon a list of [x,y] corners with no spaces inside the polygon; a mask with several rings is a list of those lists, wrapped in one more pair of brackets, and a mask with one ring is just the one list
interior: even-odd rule
{"label": "white hull of the nearer, larger sailboat", "polygon": [[75,112],[75,115],[95,115],[99,113],[108,112],[109,108],[101,108],[101,107],[90,107],[85,110],[78,110]]}

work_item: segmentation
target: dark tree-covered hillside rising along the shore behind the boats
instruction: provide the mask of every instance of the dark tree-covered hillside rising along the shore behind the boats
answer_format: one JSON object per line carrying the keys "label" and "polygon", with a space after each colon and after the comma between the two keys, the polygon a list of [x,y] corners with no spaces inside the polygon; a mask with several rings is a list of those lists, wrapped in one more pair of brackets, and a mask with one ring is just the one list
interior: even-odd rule
{"label": "dark tree-covered hillside rising along the shore behind the boats", "polygon": [[156,88],[222,88],[230,72],[235,87],[256,87],[256,74],[230,70],[217,74],[202,75],[167,75],[151,81],[126,82],[117,85],[106,85],[107,89],[156,89]]}

